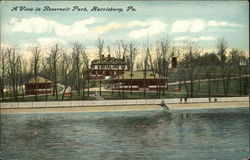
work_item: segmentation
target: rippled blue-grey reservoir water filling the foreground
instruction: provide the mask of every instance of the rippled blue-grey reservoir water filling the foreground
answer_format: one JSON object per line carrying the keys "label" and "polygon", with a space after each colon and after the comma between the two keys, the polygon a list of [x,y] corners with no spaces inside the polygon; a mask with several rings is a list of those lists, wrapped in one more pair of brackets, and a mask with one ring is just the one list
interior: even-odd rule
{"label": "rippled blue-grey reservoir water filling the foreground", "polygon": [[249,110],[2,115],[4,160],[239,160]]}

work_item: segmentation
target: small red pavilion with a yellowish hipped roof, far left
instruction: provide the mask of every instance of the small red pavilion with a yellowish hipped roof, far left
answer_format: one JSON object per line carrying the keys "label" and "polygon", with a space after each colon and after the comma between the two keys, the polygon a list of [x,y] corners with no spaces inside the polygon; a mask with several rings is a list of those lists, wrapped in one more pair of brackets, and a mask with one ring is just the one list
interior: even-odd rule
{"label": "small red pavilion with a yellowish hipped roof, far left", "polygon": [[28,83],[25,84],[25,92],[26,94],[46,94],[52,93],[52,81],[47,80],[43,77],[37,76],[36,81],[35,78],[29,80]]}

